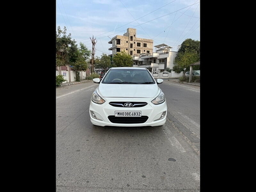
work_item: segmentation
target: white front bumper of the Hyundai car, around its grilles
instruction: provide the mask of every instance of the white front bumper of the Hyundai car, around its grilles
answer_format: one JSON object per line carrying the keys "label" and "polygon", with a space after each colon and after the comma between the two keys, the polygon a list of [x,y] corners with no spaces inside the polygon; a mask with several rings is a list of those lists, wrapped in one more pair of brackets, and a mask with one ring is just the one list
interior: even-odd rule
{"label": "white front bumper of the Hyundai car, around its grilles", "polygon": [[[89,113],[93,125],[102,127],[154,127],[164,125],[166,122],[166,101],[155,105],[152,104],[151,98],[104,98],[104,100],[106,100],[104,104],[90,102]],[[124,108],[111,106],[109,102],[147,102],[147,105],[140,108]],[[115,117],[115,111],[141,111],[141,117]]]}

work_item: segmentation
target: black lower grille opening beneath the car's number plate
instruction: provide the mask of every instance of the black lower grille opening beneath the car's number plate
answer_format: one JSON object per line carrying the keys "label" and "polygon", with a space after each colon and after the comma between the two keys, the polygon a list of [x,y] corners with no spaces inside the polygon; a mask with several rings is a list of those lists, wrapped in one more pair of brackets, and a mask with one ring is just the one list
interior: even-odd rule
{"label": "black lower grille opening beneath the car's number plate", "polygon": [[141,117],[122,117],[122,116],[108,116],[110,122],[114,124],[143,124],[147,122],[148,116],[141,116]]}

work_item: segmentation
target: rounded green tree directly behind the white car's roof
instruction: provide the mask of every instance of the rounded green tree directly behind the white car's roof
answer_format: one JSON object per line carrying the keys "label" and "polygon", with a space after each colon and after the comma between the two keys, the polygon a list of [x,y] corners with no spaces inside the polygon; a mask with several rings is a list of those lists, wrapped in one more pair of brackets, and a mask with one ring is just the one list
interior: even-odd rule
{"label": "rounded green tree directly behind the white car's roof", "polygon": [[117,52],[113,56],[113,67],[132,67],[132,56],[125,53],[125,51]]}

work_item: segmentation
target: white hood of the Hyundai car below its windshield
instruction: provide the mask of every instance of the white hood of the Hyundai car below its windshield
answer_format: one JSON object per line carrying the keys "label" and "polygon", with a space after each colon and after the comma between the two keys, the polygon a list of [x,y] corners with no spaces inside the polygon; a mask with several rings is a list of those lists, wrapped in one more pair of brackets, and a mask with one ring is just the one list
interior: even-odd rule
{"label": "white hood of the Hyundai car below its windshield", "polygon": [[160,92],[157,84],[102,84],[97,92],[100,97],[145,97],[154,98]]}

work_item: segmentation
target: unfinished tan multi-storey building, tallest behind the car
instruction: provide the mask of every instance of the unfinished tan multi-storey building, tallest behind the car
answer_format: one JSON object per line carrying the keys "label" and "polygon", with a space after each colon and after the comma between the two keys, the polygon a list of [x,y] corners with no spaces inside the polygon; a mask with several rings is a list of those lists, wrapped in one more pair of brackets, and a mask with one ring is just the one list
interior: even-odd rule
{"label": "unfinished tan multi-storey building, tallest behind the car", "polygon": [[140,56],[143,53],[153,52],[153,40],[147,38],[138,38],[136,35],[136,29],[128,28],[124,35],[116,35],[109,42],[112,47],[109,48],[112,51],[110,56],[116,54],[116,52],[125,51],[133,58]]}

